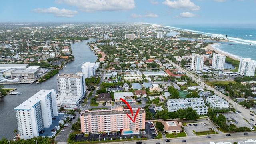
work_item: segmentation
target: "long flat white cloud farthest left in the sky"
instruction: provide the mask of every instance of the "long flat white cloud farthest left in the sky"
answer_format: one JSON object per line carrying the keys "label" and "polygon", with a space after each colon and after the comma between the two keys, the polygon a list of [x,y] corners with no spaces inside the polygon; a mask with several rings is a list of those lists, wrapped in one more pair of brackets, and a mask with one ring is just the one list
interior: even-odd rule
{"label": "long flat white cloud farthest left in the sky", "polygon": [[36,13],[46,13],[46,14],[54,14],[57,17],[74,17],[75,14],[78,14],[76,10],[68,10],[68,9],[58,9],[56,7],[50,8],[37,8],[32,10]]}

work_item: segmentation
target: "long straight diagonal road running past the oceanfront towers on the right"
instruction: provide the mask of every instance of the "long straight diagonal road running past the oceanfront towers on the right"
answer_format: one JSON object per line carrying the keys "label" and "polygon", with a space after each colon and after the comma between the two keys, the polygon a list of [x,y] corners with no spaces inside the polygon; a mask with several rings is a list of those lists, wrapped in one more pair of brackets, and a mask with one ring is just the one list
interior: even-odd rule
{"label": "long straight diagonal road running past the oceanfront towers on the right", "polygon": [[250,118],[253,118],[250,115],[250,110],[249,109],[245,109],[243,106],[237,104],[236,102],[234,102],[233,100],[231,100],[228,96],[222,94],[221,92],[219,92],[218,90],[216,90],[215,88],[212,88],[211,86],[208,86],[207,84],[205,84],[204,82],[202,82],[202,80],[200,80],[200,78],[194,76],[193,74],[191,74],[188,71],[185,71],[183,68],[181,68],[180,66],[178,66],[177,64],[175,64],[174,62],[172,62],[171,60],[169,60],[168,58],[165,58],[165,60],[168,60],[170,62],[170,64],[172,64],[174,67],[176,67],[178,70],[180,70],[180,72],[185,73],[188,77],[190,77],[192,80],[194,80],[195,82],[198,82],[198,84],[200,86],[202,86],[202,88],[206,88],[207,90],[212,90],[215,92],[216,95],[220,96],[221,98],[225,98],[226,101],[231,104],[231,106],[233,106],[236,111],[241,112],[240,114],[242,115],[243,118],[245,118],[246,120],[248,120],[249,122],[254,123],[252,120],[250,120]]}

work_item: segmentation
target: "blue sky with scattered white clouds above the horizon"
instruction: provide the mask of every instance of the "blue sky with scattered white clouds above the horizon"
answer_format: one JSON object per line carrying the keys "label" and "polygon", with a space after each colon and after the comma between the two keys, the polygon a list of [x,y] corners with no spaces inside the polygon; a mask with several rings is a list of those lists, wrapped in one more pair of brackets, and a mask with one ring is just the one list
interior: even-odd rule
{"label": "blue sky with scattered white clouds above the horizon", "polygon": [[0,22],[256,23],[256,0],[3,0]]}

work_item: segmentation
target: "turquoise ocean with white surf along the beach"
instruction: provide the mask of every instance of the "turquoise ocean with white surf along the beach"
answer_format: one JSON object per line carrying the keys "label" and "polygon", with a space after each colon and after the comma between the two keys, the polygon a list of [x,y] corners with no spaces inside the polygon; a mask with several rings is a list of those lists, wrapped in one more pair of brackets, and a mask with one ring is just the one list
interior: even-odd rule
{"label": "turquoise ocean with white surf along the beach", "polygon": [[[164,24],[162,24],[164,25]],[[228,38],[228,42],[216,42],[212,45],[216,50],[236,58],[256,60],[256,25],[164,25],[168,28],[184,30],[207,36]]]}

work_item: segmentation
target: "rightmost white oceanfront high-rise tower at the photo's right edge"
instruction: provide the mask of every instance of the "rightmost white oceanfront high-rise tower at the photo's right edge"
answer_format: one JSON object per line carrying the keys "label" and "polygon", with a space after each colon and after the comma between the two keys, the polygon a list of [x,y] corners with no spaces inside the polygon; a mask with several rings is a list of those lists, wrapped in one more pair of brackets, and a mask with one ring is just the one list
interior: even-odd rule
{"label": "rightmost white oceanfront high-rise tower at the photo's right edge", "polygon": [[254,76],[256,61],[250,58],[241,58],[238,68],[238,73],[241,76]]}

